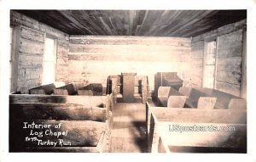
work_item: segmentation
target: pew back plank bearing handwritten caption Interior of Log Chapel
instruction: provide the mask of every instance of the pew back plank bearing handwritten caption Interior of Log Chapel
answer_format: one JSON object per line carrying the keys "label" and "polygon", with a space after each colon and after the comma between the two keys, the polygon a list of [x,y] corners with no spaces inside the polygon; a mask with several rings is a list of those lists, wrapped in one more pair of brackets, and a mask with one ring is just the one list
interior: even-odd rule
{"label": "pew back plank bearing handwritten caption Interior of Log Chapel", "polygon": [[11,120],[10,152],[30,148],[97,147],[106,130],[106,123],[90,120]]}

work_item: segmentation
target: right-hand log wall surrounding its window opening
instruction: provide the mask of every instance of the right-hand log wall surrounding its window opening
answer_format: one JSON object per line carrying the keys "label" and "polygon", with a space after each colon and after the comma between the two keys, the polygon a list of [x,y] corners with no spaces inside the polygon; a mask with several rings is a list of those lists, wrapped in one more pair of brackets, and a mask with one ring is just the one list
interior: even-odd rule
{"label": "right-hand log wall surrounding its window opening", "polygon": [[202,86],[204,42],[209,38],[218,37],[216,89],[240,96],[241,73],[246,72],[246,69],[242,69],[244,65],[242,64],[242,51],[245,41],[243,30],[245,30],[246,23],[246,20],[241,20],[192,38],[191,85],[193,87]]}

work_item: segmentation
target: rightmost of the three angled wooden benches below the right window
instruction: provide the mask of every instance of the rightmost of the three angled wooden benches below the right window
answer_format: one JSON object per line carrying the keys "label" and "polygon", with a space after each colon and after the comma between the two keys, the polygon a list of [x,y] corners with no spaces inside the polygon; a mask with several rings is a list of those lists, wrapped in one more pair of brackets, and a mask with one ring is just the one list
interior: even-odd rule
{"label": "rightmost of the three angled wooden benches below the right window", "polygon": [[212,88],[201,88],[201,92],[217,98],[215,109],[247,109],[247,100]]}

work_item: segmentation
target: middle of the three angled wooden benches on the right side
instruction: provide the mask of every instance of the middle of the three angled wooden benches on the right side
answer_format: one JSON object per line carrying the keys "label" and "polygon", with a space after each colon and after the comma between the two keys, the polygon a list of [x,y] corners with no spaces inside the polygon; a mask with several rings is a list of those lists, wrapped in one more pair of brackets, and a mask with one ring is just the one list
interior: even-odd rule
{"label": "middle of the three angled wooden benches on the right side", "polygon": [[186,108],[214,109],[217,98],[191,87],[180,87],[179,92],[187,97]]}

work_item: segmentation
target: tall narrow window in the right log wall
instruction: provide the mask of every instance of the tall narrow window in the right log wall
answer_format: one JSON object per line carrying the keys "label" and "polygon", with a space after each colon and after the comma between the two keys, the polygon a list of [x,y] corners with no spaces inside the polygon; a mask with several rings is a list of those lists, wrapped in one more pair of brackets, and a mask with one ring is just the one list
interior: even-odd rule
{"label": "tall narrow window in the right log wall", "polygon": [[217,41],[205,43],[202,87],[215,88]]}

